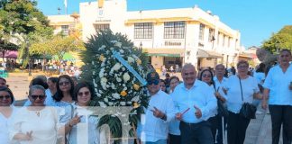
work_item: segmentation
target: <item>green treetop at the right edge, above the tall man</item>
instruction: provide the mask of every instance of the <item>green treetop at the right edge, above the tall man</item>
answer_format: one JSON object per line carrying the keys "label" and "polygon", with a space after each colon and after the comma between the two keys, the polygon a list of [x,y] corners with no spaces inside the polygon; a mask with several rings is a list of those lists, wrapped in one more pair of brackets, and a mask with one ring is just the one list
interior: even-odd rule
{"label": "green treetop at the right edge, above the tall man", "polygon": [[261,48],[271,53],[278,53],[280,49],[292,50],[292,25],[285,26],[278,33],[273,33],[269,40],[262,43]]}

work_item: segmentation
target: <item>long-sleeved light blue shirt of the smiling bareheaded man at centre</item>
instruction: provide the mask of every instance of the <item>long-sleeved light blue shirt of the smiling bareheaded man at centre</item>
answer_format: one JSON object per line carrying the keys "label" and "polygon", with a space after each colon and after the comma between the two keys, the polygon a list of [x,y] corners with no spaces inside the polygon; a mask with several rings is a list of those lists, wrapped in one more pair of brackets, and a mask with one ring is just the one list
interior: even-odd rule
{"label": "long-sleeved light blue shirt of the smiling bareheaded man at centre", "polygon": [[[172,95],[177,111],[185,112],[182,116],[182,121],[185,122],[197,123],[206,121],[212,116],[212,112],[217,109],[214,91],[205,82],[197,79],[189,89],[184,83],[179,84]],[[199,119],[195,116],[196,109],[194,105],[202,112],[202,117]],[[187,111],[188,108],[189,110]]]}

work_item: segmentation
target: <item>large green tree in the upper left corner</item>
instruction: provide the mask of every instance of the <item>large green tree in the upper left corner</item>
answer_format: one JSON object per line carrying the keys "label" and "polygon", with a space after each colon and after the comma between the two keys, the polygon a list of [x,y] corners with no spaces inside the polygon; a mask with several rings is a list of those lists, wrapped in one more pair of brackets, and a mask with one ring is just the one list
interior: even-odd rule
{"label": "large green tree in the upper left corner", "polygon": [[[5,0],[0,3],[0,40],[11,41],[17,38],[20,58],[26,66],[30,58],[29,46],[34,42],[41,42],[51,37],[52,29],[47,17],[36,8],[36,1]],[[0,49],[10,50],[5,45]]]}

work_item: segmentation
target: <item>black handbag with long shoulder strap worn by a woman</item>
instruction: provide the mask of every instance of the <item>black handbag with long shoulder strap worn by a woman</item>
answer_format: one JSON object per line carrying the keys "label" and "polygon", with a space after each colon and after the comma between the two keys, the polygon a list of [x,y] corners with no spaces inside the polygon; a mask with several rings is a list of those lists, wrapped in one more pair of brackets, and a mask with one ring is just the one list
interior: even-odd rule
{"label": "black handbag with long shoulder strap worn by a woman", "polygon": [[[239,80],[240,80],[240,85],[241,85],[241,92],[242,92],[242,80],[241,78],[238,76]],[[243,101],[243,94],[242,94],[242,102]],[[240,110],[240,115],[246,119],[255,119],[256,115],[255,113],[257,112],[257,107],[254,106],[251,103],[243,103],[242,104],[242,108]]]}

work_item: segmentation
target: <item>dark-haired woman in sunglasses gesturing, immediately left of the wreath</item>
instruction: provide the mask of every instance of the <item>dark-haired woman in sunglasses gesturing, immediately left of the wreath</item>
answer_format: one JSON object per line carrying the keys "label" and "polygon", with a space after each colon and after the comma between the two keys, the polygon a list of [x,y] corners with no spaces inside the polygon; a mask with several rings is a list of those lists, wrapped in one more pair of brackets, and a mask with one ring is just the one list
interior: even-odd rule
{"label": "dark-haired woman in sunglasses gesturing, immediately left of the wreath", "polygon": [[[65,133],[67,134],[67,140],[69,144],[77,144],[78,135],[83,132],[87,132],[87,129],[77,129],[78,123],[88,124],[88,137],[83,136],[83,141],[88,140],[85,143],[99,143],[99,130],[97,129],[97,123],[99,118],[92,114],[91,111],[87,110],[90,100],[94,97],[94,91],[92,86],[88,85],[86,82],[81,82],[76,85],[73,95],[73,100],[76,103],[71,106],[66,107],[66,114],[61,118],[61,122],[65,124]],[[86,115],[82,113],[87,113]],[[82,114],[79,115],[79,114]],[[78,130],[78,131],[77,131]]]}

